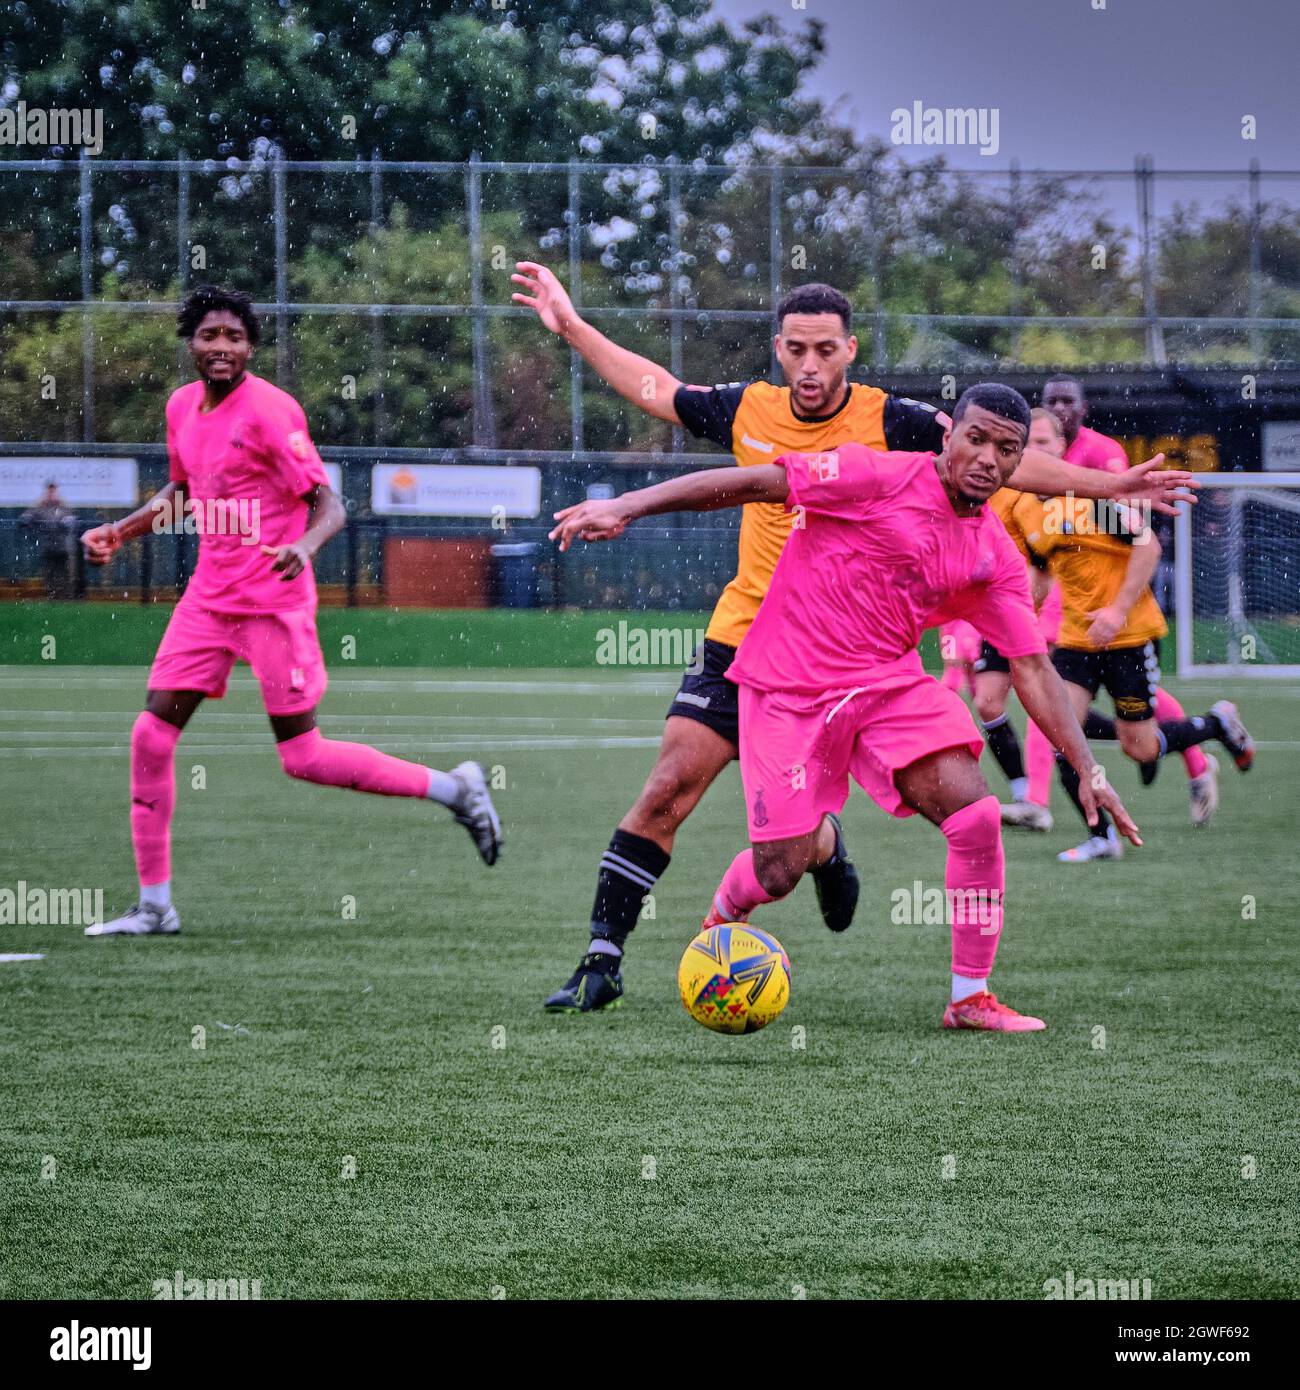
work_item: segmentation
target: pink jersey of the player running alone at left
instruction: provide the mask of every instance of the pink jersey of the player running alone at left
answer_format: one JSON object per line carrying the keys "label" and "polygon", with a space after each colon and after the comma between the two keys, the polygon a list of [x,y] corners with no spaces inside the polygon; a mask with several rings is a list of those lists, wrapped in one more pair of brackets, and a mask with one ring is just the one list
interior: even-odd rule
{"label": "pink jersey of the player running alone at left", "polygon": [[184,484],[189,524],[199,532],[185,599],[214,613],[314,607],[311,566],[282,580],[261,552],[302,539],[304,496],[330,485],[302,406],[252,373],[216,410],[203,414],[202,404],[202,381],[167,402],[171,480]]}

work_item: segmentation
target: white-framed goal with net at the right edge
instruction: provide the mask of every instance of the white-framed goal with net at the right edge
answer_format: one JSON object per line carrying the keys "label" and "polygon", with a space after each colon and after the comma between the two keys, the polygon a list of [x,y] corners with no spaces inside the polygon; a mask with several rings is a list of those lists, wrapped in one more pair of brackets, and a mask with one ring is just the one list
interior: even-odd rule
{"label": "white-framed goal with net at the right edge", "polygon": [[1173,523],[1179,676],[1300,678],[1300,473],[1207,473]]}

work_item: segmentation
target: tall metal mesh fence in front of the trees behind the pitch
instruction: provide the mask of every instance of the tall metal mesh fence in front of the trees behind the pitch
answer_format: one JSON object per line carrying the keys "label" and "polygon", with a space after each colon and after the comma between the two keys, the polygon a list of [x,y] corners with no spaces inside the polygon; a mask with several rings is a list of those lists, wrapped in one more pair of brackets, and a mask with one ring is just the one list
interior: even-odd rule
{"label": "tall metal mesh fence in front of the trees behind the pitch", "polygon": [[[189,379],[177,299],[203,281],[246,289],[266,327],[256,370],[303,402],[343,470],[349,528],[321,578],[349,602],[382,598],[403,537],[528,545],[546,530],[377,517],[373,463],[537,466],[545,517],[591,484],[640,485],[712,452],[621,402],[512,304],[519,259],[551,264],[584,317],[692,381],[774,374],[773,307],[809,279],[854,300],[862,379],[1300,357],[1300,171],[1256,163],[954,172],[887,160],[83,156],[0,160],[0,453],[129,453],[150,491],[164,477],[152,442],[163,403]],[[638,528],[633,546],[538,562],[535,592],[706,607],[734,531],[716,514]],[[192,538],[161,541],[78,584],[174,592]],[[0,581],[38,573],[17,512],[0,512]],[[501,596],[499,578],[488,588]]]}

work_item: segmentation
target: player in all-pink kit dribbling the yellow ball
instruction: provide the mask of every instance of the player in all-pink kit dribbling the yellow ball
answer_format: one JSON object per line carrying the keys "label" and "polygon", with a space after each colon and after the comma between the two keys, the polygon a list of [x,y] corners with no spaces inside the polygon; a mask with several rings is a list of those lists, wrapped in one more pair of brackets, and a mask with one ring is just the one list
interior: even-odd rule
{"label": "player in all-pink kit dribbling the yellow ball", "polygon": [[[795,524],[729,677],[740,685],[740,762],[749,849],[705,924],[744,922],[791,892],[815,862],[818,827],[854,778],[883,810],[920,813],[948,842],[951,998],[944,1027],[1026,1033],[1041,1019],[989,990],[1002,929],[1001,816],[979,770],[983,739],[961,698],[920,664],[926,627],[965,619],[1011,663],[1030,717],[1133,844],[1137,827],[1089,752],[1046,655],[1025,562],[984,506],[1021,461],[1029,406],[1008,386],[966,391],[933,453],[843,445],[772,464],[710,468],[647,489],[640,514],[780,502]],[[602,539],[585,505],[558,513],[562,546]]]}

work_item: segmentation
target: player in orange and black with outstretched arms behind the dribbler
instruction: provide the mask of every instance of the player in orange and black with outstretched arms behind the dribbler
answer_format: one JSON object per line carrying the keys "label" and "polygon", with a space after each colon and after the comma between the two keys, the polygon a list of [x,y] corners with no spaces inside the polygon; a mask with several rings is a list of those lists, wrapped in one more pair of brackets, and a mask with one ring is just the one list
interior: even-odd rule
{"label": "player in orange and black with outstretched arms behind the dribbler", "polygon": [[[850,384],[847,373],[858,352],[852,306],[830,285],[804,285],[777,306],[774,349],[787,385],[752,381],[708,388],[684,385],[656,363],[610,342],[578,316],[545,265],[520,261],[512,279],[520,286],[512,299],[533,309],[619,395],[658,420],[722,445],[741,467],[844,443],[943,449],[947,417],[876,386]],[[1015,477],[1018,486],[1043,492],[1157,499],[1178,495],[1190,481],[1187,473],[1162,473],[1148,481],[1147,467],[1112,475],[1026,450]],[[588,506],[606,530],[610,518],[633,520],[634,512],[624,509],[635,506],[628,500],[634,496]],[[737,688],[727,680],[727,667],[767,592],[791,524],[791,513],[779,503],[744,509],[736,578],[717,602],[704,651],[692,663],[697,669],[687,673],[669,709],[655,767],[601,858],[588,951],[571,979],[546,999],[548,1009],[585,1013],[621,999],[623,948],[642,899],[667,869],[677,828],[737,756]],[[856,906],[858,876],[834,816],[822,821],[811,873],[826,924],[843,931]]]}

